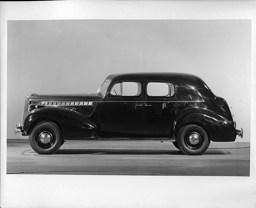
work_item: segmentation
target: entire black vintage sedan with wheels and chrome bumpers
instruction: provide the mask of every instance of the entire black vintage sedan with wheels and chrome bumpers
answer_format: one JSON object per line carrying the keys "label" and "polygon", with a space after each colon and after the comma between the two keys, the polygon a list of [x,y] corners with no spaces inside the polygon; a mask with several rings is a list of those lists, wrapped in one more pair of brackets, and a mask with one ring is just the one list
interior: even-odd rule
{"label": "entire black vintage sedan with wheels and chrome bumpers", "polygon": [[38,154],[53,154],[67,140],[152,140],[202,155],[210,141],[243,137],[226,101],[182,73],[112,74],[96,94],[30,94],[17,132]]}

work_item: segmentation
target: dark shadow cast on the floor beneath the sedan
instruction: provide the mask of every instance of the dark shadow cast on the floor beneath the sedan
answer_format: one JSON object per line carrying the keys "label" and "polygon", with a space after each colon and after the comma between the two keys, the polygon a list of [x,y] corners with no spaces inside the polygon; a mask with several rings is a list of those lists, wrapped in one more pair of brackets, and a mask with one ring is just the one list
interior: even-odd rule
{"label": "dark shadow cast on the floor beneath the sedan", "polygon": [[[179,150],[158,150],[158,149],[59,149],[54,155],[185,155]],[[227,155],[231,154],[226,150],[211,149],[204,155]]]}

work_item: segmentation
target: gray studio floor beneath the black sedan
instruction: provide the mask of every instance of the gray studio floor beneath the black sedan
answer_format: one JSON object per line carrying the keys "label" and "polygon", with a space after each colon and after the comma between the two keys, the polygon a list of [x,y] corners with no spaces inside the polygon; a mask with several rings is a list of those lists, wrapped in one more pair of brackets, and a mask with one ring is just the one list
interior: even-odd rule
{"label": "gray studio floor beneath the black sedan", "polygon": [[250,176],[250,143],[211,142],[187,156],[171,142],[78,140],[38,155],[28,140],[7,140],[7,174]]}

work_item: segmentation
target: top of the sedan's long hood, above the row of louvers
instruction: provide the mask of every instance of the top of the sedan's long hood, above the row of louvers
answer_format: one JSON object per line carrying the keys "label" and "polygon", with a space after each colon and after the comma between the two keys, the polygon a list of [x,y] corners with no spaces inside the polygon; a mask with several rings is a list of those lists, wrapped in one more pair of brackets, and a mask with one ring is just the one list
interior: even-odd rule
{"label": "top of the sedan's long hood, above the row of louvers", "polygon": [[37,95],[26,96],[30,101],[97,101],[96,94],[63,94],[63,95]]}

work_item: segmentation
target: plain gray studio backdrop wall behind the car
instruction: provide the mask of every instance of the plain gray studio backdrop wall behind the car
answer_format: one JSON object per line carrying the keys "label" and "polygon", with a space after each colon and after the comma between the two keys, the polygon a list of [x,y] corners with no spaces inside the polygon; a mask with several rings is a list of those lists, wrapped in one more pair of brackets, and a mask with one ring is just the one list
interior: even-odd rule
{"label": "plain gray studio backdrop wall behind the car", "polygon": [[250,20],[19,20],[7,23],[7,139],[30,93],[95,93],[120,72],[184,72],[229,104],[250,142]]}

